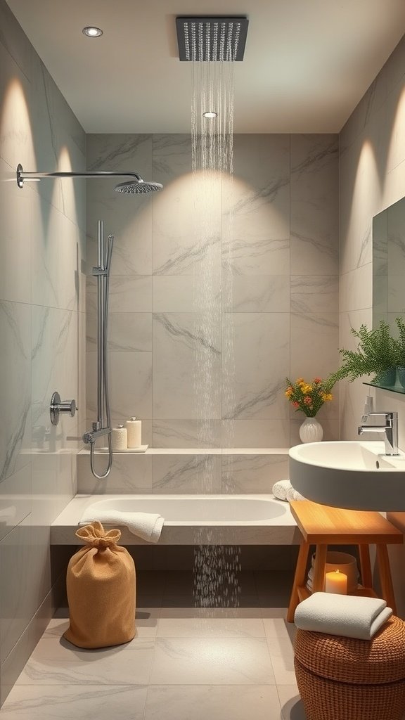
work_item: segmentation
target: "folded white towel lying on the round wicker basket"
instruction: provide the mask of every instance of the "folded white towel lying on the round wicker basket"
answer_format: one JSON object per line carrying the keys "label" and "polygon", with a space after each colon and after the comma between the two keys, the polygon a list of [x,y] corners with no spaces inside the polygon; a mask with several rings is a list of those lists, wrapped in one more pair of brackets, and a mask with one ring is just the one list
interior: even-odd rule
{"label": "folded white towel lying on the round wicker basket", "polygon": [[301,630],[371,640],[391,615],[386,600],[313,593],[298,605],[294,622]]}

